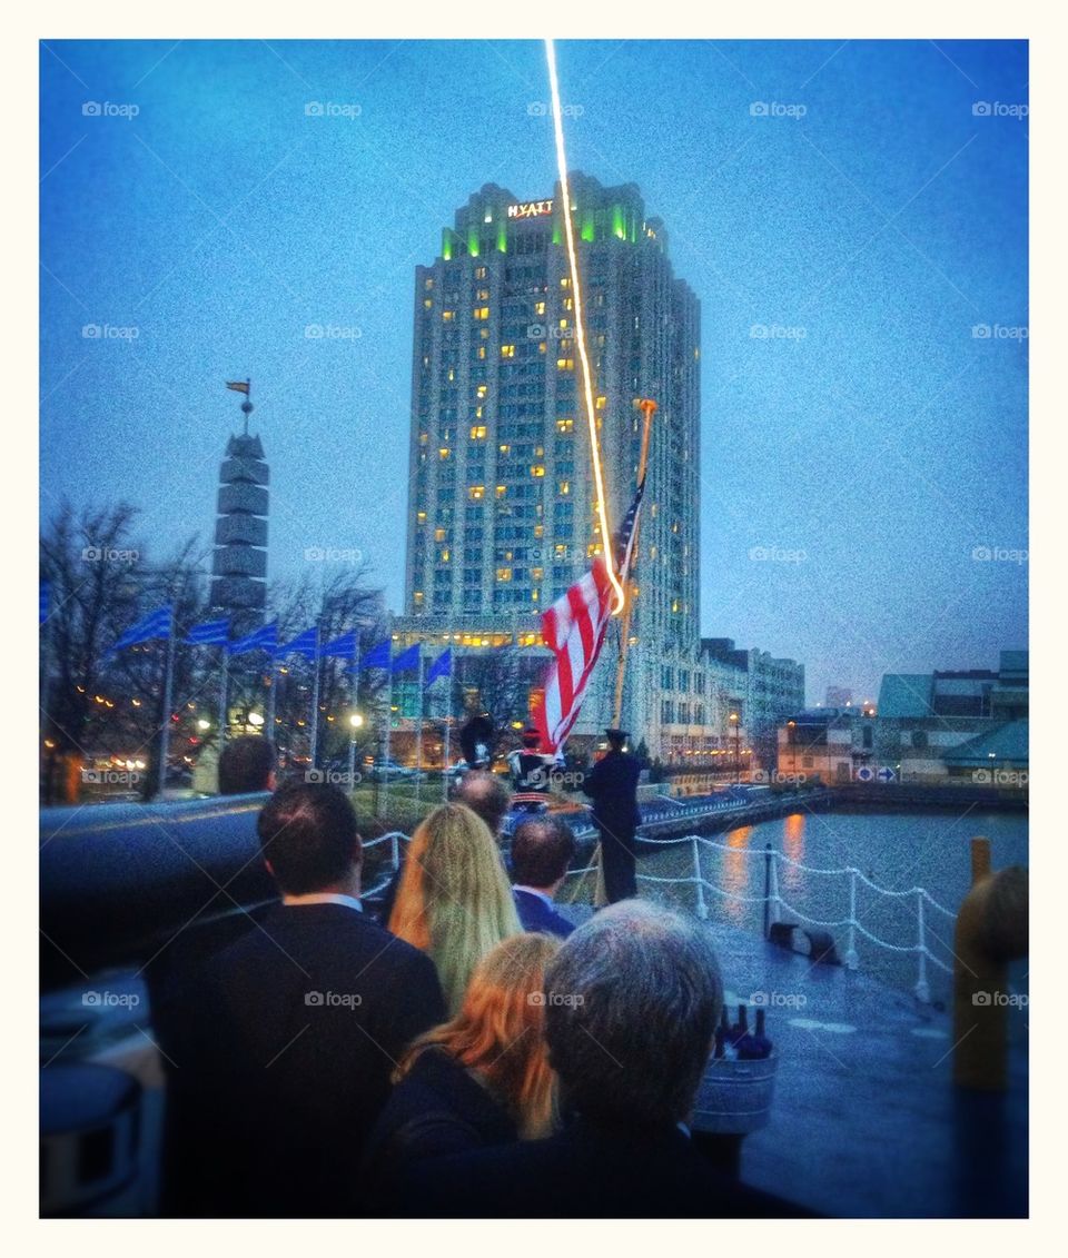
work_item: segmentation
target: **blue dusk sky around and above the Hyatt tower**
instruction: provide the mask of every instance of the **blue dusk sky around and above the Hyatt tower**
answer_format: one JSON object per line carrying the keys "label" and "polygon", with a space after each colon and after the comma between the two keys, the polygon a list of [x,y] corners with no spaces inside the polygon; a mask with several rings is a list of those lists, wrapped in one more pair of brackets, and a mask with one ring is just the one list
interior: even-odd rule
{"label": "blue dusk sky around and above the Hyatt tower", "polygon": [[[40,55],[44,516],[206,543],[250,376],[269,576],[357,548],[401,610],[414,268],[483,184],[552,195],[542,45]],[[701,301],[702,632],[803,660],[810,703],[1025,647],[1026,45],[557,59],[571,167],[639,185]]]}

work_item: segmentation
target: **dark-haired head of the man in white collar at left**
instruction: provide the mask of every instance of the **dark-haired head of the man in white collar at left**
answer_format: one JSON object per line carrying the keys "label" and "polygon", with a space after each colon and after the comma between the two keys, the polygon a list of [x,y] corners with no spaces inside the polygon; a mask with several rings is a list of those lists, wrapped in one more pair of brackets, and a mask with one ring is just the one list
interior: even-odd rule
{"label": "dark-haired head of the man in white collar at left", "polygon": [[264,804],[257,830],[270,872],[292,896],[336,887],[362,858],[348,796],[325,782],[283,786]]}

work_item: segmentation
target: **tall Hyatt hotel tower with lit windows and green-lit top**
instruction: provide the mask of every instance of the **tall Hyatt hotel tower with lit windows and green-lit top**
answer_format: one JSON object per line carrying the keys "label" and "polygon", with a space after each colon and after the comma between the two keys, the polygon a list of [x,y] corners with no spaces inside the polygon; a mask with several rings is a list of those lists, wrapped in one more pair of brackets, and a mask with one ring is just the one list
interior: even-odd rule
{"label": "tall Hyatt hotel tower with lit windows and green-lit top", "polygon": [[[613,527],[634,492],[635,401],[658,405],[631,620],[633,706],[660,648],[698,637],[699,306],[633,184],[575,175],[571,200]],[[440,257],[416,270],[411,618],[526,621],[601,550],[564,230],[559,187],[521,201],[488,184],[457,211]],[[608,718],[605,689],[587,699],[584,725]]]}

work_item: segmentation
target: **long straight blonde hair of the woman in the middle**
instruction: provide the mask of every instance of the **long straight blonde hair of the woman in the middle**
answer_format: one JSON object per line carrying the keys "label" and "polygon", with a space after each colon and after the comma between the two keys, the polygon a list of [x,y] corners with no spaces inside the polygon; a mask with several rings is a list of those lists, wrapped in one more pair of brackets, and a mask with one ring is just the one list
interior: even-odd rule
{"label": "long straight blonde hair of the woman in the middle", "polygon": [[486,954],[522,931],[501,853],[469,808],[444,804],[416,828],[389,928],[434,961],[450,1014]]}

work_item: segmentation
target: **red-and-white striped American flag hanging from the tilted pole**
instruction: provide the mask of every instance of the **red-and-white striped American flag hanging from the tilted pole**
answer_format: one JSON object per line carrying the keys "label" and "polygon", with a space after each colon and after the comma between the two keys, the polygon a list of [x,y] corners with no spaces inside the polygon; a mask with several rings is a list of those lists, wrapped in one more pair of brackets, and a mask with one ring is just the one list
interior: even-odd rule
{"label": "red-and-white striped American flag hanging from the tilted pole", "polygon": [[[615,551],[621,556],[620,584],[626,581],[634,545],[634,526],[645,493],[645,479],[638,486],[630,509],[616,537]],[[594,665],[601,653],[611,616],[613,587],[604,556],[581,580],[559,598],[541,618],[541,635],[556,657],[548,665],[545,696],[535,707],[535,723],[543,750],[562,746],[579,720]]]}

